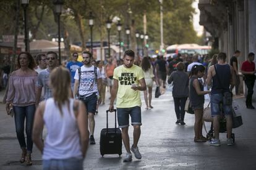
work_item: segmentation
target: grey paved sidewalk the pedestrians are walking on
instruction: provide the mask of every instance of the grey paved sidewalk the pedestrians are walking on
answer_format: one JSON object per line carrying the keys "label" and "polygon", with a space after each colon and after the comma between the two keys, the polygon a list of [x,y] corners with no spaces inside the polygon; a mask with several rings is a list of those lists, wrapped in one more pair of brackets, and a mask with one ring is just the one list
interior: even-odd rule
{"label": "grey paved sidewalk the pedestrians are walking on", "polygon": [[[108,99],[108,95],[106,99]],[[159,99],[153,97],[153,109],[145,110],[142,104],[142,135],[139,141],[142,160],[122,163],[118,155],[100,155],[100,130],[106,126],[106,109],[109,100],[101,105],[96,115],[96,145],[90,145],[84,169],[256,169],[256,111],[245,108],[244,98],[236,99],[241,106],[244,125],[234,129],[236,145],[226,145],[226,134],[221,134],[221,147],[207,143],[194,143],[194,115],[186,114],[185,126],[175,124],[174,102],[171,92]],[[143,101],[143,95],[142,95]],[[207,102],[206,102],[207,103]],[[255,102],[254,102],[254,105]],[[114,114],[109,116],[109,126],[114,126]],[[210,123],[207,123],[207,129]],[[132,141],[132,127],[130,126]],[[205,134],[205,131],[203,131]],[[132,144],[132,142],[130,142]],[[126,153],[124,146],[123,155]],[[33,150],[33,166],[18,162],[20,148],[15,135],[14,119],[6,115],[0,103],[0,169],[41,169],[41,155]]]}

